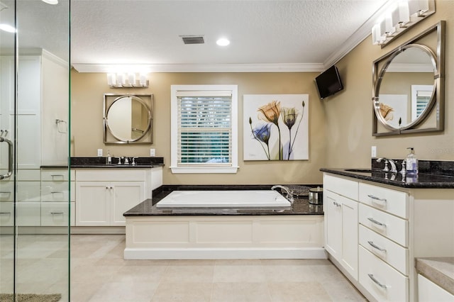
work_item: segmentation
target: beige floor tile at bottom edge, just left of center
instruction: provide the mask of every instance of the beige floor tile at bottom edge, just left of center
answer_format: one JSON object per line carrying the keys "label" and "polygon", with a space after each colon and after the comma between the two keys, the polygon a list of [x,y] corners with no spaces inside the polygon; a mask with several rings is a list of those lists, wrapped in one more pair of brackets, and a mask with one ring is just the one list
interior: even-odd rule
{"label": "beige floor tile at bottom edge, just left of center", "polygon": [[211,282],[161,282],[151,301],[208,302],[210,296]]}

